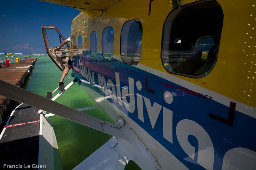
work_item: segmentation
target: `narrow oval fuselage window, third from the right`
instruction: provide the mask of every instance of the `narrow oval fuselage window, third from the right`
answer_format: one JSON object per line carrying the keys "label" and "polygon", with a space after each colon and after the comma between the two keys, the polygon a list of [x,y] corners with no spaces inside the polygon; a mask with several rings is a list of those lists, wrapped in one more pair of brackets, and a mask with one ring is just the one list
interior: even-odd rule
{"label": "narrow oval fuselage window, third from the right", "polygon": [[104,28],[102,33],[102,55],[111,60],[114,54],[114,31],[112,26]]}

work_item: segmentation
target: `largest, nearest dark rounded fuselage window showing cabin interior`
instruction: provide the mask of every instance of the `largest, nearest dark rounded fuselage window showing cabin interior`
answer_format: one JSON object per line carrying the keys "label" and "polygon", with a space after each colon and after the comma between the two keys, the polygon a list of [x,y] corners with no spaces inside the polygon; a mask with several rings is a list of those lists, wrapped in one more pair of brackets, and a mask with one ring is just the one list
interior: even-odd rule
{"label": "largest, nearest dark rounded fuselage window showing cabin interior", "polygon": [[164,24],[164,68],[191,78],[207,75],[217,61],[222,24],[222,9],[214,1],[201,1],[172,11]]}

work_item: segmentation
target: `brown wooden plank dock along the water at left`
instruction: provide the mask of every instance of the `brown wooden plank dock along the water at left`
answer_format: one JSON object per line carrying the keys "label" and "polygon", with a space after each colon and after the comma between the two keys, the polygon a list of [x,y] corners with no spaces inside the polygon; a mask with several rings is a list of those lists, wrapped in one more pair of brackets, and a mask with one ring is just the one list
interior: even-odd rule
{"label": "brown wooden plank dock along the water at left", "polygon": [[[27,58],[27,60],[20,61],[19,63],[11,63],[10,67],[2,67],[0,69],[0,80],[22,87],[25,85],[36,59]],[[4,96],[0,95],[0,104],[3,104],[5,99]]]}

